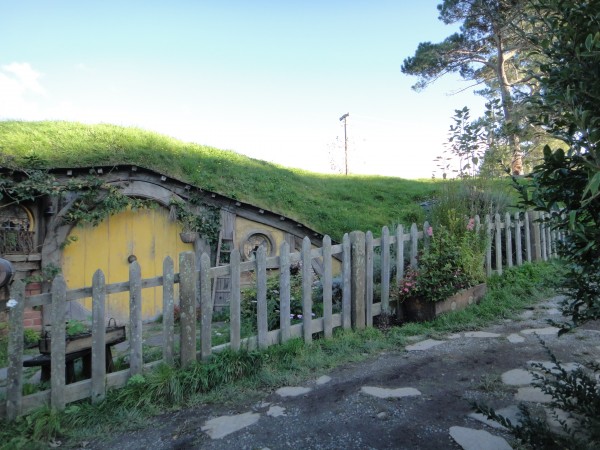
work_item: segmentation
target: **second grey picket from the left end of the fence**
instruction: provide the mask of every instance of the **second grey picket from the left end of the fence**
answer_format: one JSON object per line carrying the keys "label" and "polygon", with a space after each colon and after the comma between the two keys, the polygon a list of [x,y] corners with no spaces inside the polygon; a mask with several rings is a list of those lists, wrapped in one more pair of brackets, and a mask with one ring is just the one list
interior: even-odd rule
{"label": "second grey picket from the left end of the fence", "polygon": [[[50,404],[62,411],[65,408],[65,352],[67,317],[67,285],[62,275],[52,282],[52,341],[50,344]],[[102,361],[104,363],[104,361]]]}

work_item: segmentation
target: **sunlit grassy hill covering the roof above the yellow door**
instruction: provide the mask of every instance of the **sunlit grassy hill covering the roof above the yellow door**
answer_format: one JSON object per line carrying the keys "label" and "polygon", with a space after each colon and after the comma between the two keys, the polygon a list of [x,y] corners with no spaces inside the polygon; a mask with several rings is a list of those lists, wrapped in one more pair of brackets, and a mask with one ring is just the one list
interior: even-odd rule
{"label": "sunlit grassy hill covering the roof above the yellow door", "polygon": [[0,121],[0,165],[135,164],[298,220],[339,240],[345,232],[422,220],[439,184],[379,176],[323,175],[114,125]]}

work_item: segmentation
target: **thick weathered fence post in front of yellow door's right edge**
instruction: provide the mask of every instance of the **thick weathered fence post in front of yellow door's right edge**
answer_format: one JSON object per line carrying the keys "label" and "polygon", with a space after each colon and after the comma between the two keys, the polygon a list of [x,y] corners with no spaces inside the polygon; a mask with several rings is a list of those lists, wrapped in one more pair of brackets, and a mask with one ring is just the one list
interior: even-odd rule
{"label": "thick weathered fence post in front of yellow door's right edge", "polygon": [[179,308],[179,359],[184,367],[196,360],[196,256],[193,252],[179,254]]}

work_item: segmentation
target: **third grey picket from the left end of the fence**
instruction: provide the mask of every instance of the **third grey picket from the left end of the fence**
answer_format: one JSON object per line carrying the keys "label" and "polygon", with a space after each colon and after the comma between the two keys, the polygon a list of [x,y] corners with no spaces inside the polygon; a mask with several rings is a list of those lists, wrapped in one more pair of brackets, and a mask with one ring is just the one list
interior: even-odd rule
{"label": "third grey picket from the left end of the fence", "polygon": [[[92,403],[106,397],[106,328],[104,306],[106,302],[106,279],[98,269],[92,277]],[[172,314],[171,314],[172,315]],[[164,317],[163,317],[164,319]],[[52,350],[54,353],[54,349]],[[63,372],[64,373],[64,372]],[[54,374],[52,375],[54,376]],[[54,388],[52,388],[54,390]]]}

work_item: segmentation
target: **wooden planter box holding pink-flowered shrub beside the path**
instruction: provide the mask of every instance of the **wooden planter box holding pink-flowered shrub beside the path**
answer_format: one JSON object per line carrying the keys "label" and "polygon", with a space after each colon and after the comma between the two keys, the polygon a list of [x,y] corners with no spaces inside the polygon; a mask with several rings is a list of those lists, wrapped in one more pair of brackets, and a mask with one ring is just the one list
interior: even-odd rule
{"label": "wooden planter box holding pink-flowered shrub beside the path", "polygon": [[457,292],[441,302],[430,302],[425,299],[411,299],[402,304],[404,319],[408,322],[426,322],[442,313],[459,311],[474,303],[479,303],[487,292],[485,283],[472,286]]}

